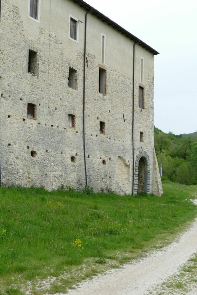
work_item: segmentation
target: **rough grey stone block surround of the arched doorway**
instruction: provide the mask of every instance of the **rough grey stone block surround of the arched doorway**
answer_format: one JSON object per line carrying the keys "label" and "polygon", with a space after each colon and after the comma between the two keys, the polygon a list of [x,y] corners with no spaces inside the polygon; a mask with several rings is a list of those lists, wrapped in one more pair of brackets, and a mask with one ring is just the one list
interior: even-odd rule
{"label": "rough grey stone block surround of the arched doorway", "polygon": [[145,170],[147,171],[147,194],[151,193],[151,161],[144,149],[141,149],[135,158],[135,172],[134,172],[134,195],[138,193],[138,167],[139,160],[143,157],[145,162]]}

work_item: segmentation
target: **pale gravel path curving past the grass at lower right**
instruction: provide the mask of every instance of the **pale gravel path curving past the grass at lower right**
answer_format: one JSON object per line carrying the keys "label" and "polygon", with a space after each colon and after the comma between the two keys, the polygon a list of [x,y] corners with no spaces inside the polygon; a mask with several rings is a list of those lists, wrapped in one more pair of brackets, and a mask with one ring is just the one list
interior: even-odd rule
{"label": "pale gravel path curving past the grass at lower right", "polygon": [[[152,288],[166,281],[178,268],[197,252],[197,218],[179,240],[162,250],[151,253],[126,264],[122,269],[113,269],[105,275],[84,281],[70,295],[145,295]],[[197,291],[196,291],[197,293]],[[195,294],[196,294],[195,293]]]}

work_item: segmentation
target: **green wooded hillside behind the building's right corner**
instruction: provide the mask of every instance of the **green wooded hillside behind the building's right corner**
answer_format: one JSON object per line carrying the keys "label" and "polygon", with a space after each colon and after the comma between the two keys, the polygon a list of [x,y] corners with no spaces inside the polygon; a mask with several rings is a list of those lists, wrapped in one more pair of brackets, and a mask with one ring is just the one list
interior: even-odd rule
{"label": "green wooded hillside behind the building's right corner", "polygon": [[183,184],[197,184],[197,132],[175,135],[155,127],[155,150],[163,177]]}

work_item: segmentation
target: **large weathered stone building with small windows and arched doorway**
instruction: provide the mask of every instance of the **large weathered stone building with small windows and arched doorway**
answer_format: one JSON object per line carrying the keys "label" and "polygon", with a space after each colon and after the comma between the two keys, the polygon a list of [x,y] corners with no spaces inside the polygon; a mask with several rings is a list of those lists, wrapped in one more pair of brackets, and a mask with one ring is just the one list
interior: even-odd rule
{"label": "large weathered stone building with small windows and arched doorway", "polygon": [[2,1],[2,183],[160,196],[157,54],[82,0]]}

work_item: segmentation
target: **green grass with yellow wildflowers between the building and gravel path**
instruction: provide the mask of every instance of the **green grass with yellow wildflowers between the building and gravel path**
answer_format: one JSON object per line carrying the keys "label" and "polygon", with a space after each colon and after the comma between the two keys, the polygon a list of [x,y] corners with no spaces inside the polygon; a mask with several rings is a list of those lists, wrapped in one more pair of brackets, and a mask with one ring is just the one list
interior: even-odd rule
{"label": "green grass with yellow wildflowers between the building and gravel path", "polygon": [[[159,198],[3,188],[0,293],[66,292],[77,281],[167,244],[196,216],[190,199],[197,188],[164,181],[163,189]],[[44,280],[50,282],[42,288]]]}

